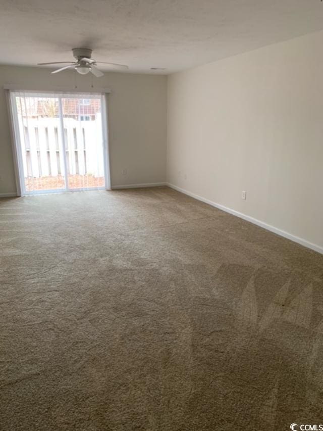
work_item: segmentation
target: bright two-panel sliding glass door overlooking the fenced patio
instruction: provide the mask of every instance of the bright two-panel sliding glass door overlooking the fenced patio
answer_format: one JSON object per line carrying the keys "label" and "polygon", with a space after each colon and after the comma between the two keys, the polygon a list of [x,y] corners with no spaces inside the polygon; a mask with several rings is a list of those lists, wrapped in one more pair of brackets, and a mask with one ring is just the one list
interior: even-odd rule
{"label": "bright two-panel sliding glass door overlooking the fenced patio", "polygon": [[101,94],[11,92],[22,194],[106,188],[102,102]]}

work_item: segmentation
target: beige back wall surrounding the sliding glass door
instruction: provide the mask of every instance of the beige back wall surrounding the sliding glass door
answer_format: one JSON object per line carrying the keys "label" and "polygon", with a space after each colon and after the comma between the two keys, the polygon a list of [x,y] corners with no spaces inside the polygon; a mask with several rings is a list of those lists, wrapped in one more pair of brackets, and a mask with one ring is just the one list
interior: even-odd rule
{"label": "beige back wall surrounding the sliding glass door", "polygon": [[[75,73],[50,75],[50,69],[0,66],[0,194],[15,193],[4,84],[27,89],[73,89]],[[91,77],[77,76],[80,91],[90,91]],[[108,97],[112,185],[164,182],[166,179],[167,78],[161,75],[105,73],[95,86],[111,88]],[[123,169],[127,175],[123,175]]]}

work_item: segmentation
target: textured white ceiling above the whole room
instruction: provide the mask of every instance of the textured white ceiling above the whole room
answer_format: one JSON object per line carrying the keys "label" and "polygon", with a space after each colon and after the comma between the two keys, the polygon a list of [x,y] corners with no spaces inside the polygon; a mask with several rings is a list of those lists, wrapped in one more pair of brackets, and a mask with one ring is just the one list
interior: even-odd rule
{"label": "textured white ceiling above the whole room", "polygon": [[0,0],[0,63],[90,47],[130,72],[171,73],[321,29],[319,0]]}

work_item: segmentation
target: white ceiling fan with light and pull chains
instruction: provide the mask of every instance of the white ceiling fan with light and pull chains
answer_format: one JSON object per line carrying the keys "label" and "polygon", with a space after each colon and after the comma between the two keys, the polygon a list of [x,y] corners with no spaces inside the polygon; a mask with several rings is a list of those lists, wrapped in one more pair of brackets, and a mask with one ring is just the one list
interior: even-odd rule
{"label": "white ceiling fan with light and pull chains", "polygon": [[114,69],[128,69],[128,66],[124,64],[105,63],[104,61],[97,62],[96,60],[91,58],[92,50],[89,50],[88,48],[73,48],[72,53],[73,53],[73,57],[77,61],[74,61],[74,62],[59,61],[59,62],[53,62],[53,63],[37,63],[37,64],[39,66],[43,66],[47,64],[70,63],[68,66],[61,67],[60,69],[54,70],[53,72],[50,72],[50,73],[58,73],[65,69],[74,68],[81,75],[86,75],[87,73],[91,72],[96,77],[103,76],[103,73],[96,67],[97,63],[109,64]]}

